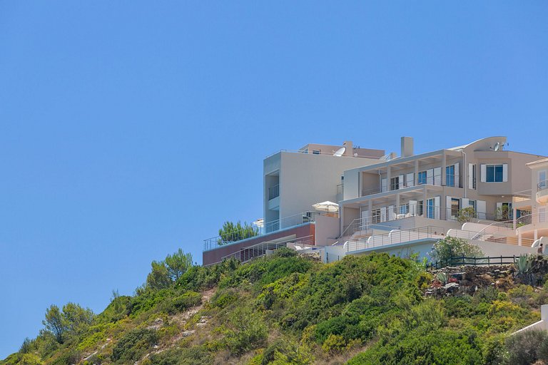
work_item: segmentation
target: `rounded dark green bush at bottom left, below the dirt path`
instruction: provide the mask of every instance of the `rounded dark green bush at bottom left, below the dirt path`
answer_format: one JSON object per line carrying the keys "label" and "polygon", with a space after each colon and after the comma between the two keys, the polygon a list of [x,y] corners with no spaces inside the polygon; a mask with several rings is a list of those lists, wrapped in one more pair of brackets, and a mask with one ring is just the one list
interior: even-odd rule
{"label": "rounded dark green bush at bottom left, below the dirt path", "polygon": [[119,364],[138,361],[158,342],[158,334],[152,329],[134,329],[123,335],[112,350],[111,359]]}

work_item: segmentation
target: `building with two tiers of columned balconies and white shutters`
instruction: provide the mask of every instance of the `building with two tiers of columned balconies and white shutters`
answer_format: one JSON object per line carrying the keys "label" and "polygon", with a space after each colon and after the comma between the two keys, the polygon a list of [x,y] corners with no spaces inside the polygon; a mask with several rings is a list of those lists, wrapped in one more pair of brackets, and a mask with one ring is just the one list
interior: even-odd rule
{"label": "building with two tiers of columned balconies and white shutters", "polygon": [[404,218],[413,219],[397,225],[436,220],[454,227],[465,207],[472,207],[478,220],[512,219],[514,198],[531,188],[527,163],[541,156],[507,151],[504,145],[505,137],[490,137],[415,155],[412,138],[403,137],[400,157],[345,171],[342,231],[356,220],[371,225]]}

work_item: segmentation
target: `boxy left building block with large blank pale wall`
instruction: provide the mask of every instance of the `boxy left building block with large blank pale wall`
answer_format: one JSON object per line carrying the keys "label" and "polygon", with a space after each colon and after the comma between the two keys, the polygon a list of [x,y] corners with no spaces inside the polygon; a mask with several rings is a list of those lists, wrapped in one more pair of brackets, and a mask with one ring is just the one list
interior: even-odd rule
{"label": "boxy left building block with large blank pale wall", "polygon": [[342,145],[308,144],[299,150],[281,150],[263,163],[264,220],[267,231],[290,227],[302,213],[326,200],[342,197],[345,170],[378,163],[384,150]]}

